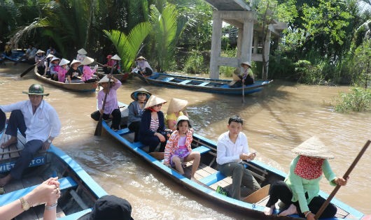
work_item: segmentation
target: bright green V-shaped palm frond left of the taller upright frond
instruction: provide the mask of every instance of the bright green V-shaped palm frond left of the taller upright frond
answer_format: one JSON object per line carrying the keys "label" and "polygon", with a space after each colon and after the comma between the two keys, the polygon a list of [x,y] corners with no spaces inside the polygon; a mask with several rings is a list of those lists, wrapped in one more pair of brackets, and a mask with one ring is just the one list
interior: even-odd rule
{"label": "bright green V-shaped palm frond left of the taller upright frond", "polygon": [[129,72],[132,66],[134,66],[134,61],[137,58],[141,44],[150,31],[151,24],[149,22],[137,24],[128,35],[117,30],[104,30],[104,34],[106,34],[113,45],[116,46],[118,55],[121,58],[121,67],[124,72]]}

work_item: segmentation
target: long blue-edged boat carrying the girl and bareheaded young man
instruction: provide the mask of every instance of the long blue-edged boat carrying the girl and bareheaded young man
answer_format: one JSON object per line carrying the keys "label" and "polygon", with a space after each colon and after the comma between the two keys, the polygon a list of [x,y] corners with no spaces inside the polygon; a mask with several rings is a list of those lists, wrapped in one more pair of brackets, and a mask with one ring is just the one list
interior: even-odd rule
{"label": "long blue-edged boat carrying the girl and bareheaded young man", "polygon": [[[122,115],[125,117],[127,112],[127,105],[124,103],[118,103],[120,110],[123,111]],[[122,122],[127,121],[123,118]],[[186,164],[184,168],[185,175],[181,175],[175,169],[169,168],[162,163],[163,153],[152,153],[148,154],[148,146],[145,146],[141,142],[133,142],[134,133],[129,129],[120,129],[118,131],[113,131],[110,128],[109,123],[103,122],[103,128],[116,140],[123,144],[125,149],[129,149],[137,156],[148,162],[149,165],[153,166],[155,169],[166,175],[169,179],[174,182],[185,186],[193,193],[207,198],[212,203],[221,205],[225,209],[234,209],[238,212],[246,214],[246,216],[256,219],[300,219],[297,214],[290,217],[279,217],[277,212],[272,216],[265,216],[263,213],[267,200],[269,199],[268,190],[269,184],[276,182],[277,180],[283,180],[286,177],[286,173],[281,172],[275,168],[267,166],[267,164],[261,161],[254,160],[250,162],[245,162],[246,169],[250,170],[255,179],[259,182],[262,189],[251,194],[244,201],[236,200],[228,196],[224,196],[216,192],[218,186],[228,186],[232,184],[232,179],[230,177],[225,177],[217,170],[216,163],[216,142],[213,142],[201,135],[193,135],[192,148],[193,151],[200,152],[201,163],[195,174],[197,182],[189,179],[191,171],[191,162]],[[125,125],[122,125],[125,127]],[[320,193],[323,198],[327,198],[328,194],[321,191]],[[331,203],[337,206],[337,215],[334,219],[362,219],[364,214],[355,210],[353,207],[342,203],[341,201],[333,198]],[[277,210],[279,207],[277,207]]]}

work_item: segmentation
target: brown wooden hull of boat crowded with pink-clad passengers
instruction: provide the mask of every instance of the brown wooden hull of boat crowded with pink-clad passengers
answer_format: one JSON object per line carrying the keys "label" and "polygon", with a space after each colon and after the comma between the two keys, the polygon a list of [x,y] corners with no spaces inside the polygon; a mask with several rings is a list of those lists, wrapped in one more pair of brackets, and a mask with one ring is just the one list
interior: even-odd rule
{"label": "brown wooden hull of boat crowded with pink-clad passengers", "polygon": [[93,92],[97,89],[97,83],[95,82],[81,82],[81,83],[64,83],[59,82],[55,80],[51,80],[50,78],[45,78],[43,75],[40,75],[40,73],[37,72],[37,67],[35,66],[34,72],[36,75],[36,78],[38,80],[41,80],[43,82],[47,82],[48,84],[54,85],[56,87],[60,87],[63,89],[71,90],[71,91],[86,91],[86,92]]}

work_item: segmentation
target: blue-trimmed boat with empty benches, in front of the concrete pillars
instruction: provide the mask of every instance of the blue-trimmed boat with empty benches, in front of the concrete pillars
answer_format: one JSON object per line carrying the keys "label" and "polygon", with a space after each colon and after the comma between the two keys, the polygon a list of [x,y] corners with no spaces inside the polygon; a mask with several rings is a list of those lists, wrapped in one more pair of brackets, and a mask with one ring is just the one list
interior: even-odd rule
{"label": "blue-trimmed boat with empty benches, in front of the concrete pillars", "polygon": [[167,73],[153,73],[149,77],[144,77],[139,73],[133,73],[143,82],[150,85],[174,87],[178,89],[189,89],[195,91],[206,91],[218,94],[241,95],[251,94],[262,90],[262,87],[269,85],[272,81],[257,80],[253,85],[245,85],[244,87],[230,87],[232,80],[213,80],[210,78],[197,78],[190,76],[181,76]]}

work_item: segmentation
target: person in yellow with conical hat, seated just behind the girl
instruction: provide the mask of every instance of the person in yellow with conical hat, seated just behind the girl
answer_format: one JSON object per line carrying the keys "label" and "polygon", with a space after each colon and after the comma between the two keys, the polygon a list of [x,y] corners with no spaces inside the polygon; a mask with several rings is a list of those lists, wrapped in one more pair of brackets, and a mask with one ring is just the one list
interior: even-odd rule
{"label": "person in yellow with conical hat, seated just behind the girl", "polygon": [[172,100],[170,100],[169,108],[167,108],[167,112],[165,115],[165,122],[168,129],[175,131],[175,124],[178,117],[180,117],[181,115],[186,115],[188,117],[187,112],[186,114],[183,114],[183,112],[181,111],[183,110],[183,108],[186,108],[187,104],[188,101],[179,98],[172,98]]}

